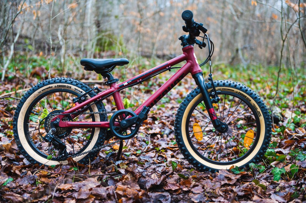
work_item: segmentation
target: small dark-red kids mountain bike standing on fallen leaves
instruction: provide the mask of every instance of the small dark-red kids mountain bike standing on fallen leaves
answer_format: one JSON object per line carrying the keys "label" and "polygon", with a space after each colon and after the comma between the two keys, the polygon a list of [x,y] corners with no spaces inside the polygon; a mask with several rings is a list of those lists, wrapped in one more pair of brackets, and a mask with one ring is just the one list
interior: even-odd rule
{"label": "small dark-red kids mountain bike standing on fallen leaves", "polygon": [[[147,119],[150,109],[188,73],[197,85],[182,101],[175,117],[175,137],[184,157],[197,169],[211,172],[242,168],[258,162],[271,139],[271,119],[261,98],[250,88],[237,82],[213,81],[205,83],[200,66],[208,61],[214,45],[203,24],[193,20],[189,10],[182,13],[185,21],[181,40],[183,54],[161,65],[117,84],[111,71],[129,61],[119,59],[82,59],[87,71],[95,71],[107,78],[110,88],[102,91],[90,88],[70,78],[52,78],[39,82],[20,100],[13,131],[21,154],[39,165],[67,164],[69,159],[87,164],[103,147],[123,142],[135,136]],[[200,33],[203,36],[200,36]],[[200,37],[202,40],[196,39]],[[199,65],[193,46],[206,47],[209,56]],[[124,108],[120,91],[140,84],[175,64],[186,61],[183,67],[166,81],[135,111]],[[113,96],[117,111],[106,111],[103,100]],[[107,114],[112,114],[107,121]],[[118,140],[103,145],[113,137]]]}

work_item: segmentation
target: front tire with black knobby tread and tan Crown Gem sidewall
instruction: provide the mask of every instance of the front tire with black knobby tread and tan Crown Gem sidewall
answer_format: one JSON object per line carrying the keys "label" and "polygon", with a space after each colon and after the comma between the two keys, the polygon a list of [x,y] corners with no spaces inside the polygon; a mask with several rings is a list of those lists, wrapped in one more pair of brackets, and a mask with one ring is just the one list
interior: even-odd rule
{"label": "front tire with black knobby tread and tan Crown Gem sidewall", "polygon": [[[245,97],[251,103],[255,110],[253,113],[256,114],[257,112],[256,117],[259,119],[259,126],[257,127],[260,127],[260,134],[257,135],[259,137],[256,141],[256,145],[254,145],[252,152],[248,153],[245,158],[231,164],[226,162],[223,162],[220,165],[217,163],[211,163],[197,154],[189,143],[190,138],[187,136],[188,133],[186,132],[186,125],[189,124],[189,121],[187,120],[188,114],[190,113],[192,106],[202,97],[200,89],[196,88],[182,101],[175,117],[175,137],[181,153],[190,164],[201,171],[217,172],[220,169],[230,169],[233,165],[245,167],[251,162],[255,163],[260,161],[263,154],[266,152],[271,139],[271,118],[266,105],[254,91],[240,83],[221,80],[214,81],[214,84],[217,90],[237,93],[240,96]],[[206,83],[206,87],[208,91],[212,88],[210,83]]]}

